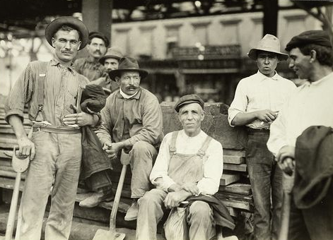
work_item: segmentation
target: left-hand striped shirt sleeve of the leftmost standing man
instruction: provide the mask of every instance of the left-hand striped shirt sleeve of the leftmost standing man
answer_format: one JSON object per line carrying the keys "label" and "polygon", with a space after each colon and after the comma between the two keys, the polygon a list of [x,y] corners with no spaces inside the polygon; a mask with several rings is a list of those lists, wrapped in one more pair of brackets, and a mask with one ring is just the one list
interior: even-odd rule
{"label": "left-hand striped shirt sleeve of the leftmost standing man", "polygon": [[11,115],[18,115],[23,121],[23,110],[26,103],[31,100],[34,85],[34,73],[32,70],[32,64],[23,71],[22,75],[16,80],[15,85],[11,89],[8,95],[7,102],[5,104],[5,120],[8,122],[8,117]]}

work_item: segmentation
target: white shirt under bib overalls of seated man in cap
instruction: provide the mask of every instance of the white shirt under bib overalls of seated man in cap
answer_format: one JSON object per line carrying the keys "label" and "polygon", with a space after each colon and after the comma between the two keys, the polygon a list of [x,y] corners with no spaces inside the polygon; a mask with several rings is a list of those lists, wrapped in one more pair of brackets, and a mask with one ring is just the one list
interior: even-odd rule
{"label": "white shirt under bib overalls of seated man in cap", "polygon": [[[197,136],[189,137],[182,130],[178,133],[176,140],[176,152],[180,154],[196,154],[204,144],[207,134],[200,131]],[[168,133],[160,145],[160,150],[156,162],[151,170],[151,183],[158,188],[168,191],[168,188],[175,184],[175,181],[168,176],[168,166],[170,162],[170,144],[172,133]],[[204,157],[204,177],[198,182],[197,187],[201,194],[214,195],[220,186],[220,180],[223,172],[223,148],[221,143],[212,139],[206,150]],[[163,179],[161,184],[156,183],[156,179]]]}

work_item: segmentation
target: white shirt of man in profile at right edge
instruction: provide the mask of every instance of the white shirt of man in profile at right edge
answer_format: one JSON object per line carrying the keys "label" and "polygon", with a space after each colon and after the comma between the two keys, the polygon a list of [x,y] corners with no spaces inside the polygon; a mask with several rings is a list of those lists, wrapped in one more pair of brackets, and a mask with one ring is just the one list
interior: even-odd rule
{"label": "white shirt of man in profile at right edge", "polygon": [[305,82],[293,92],[271,124],[268,149],[277,155],[284,145],[295,146],[309,126],[333,127],[333,73],[314,83]]}

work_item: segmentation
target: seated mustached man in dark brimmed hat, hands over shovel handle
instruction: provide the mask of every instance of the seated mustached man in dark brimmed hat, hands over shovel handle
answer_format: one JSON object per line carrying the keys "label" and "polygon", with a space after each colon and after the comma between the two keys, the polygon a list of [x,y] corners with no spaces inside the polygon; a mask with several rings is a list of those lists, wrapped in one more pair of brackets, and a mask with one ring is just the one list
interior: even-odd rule
{"label": "seated mustached man in dark brimmed hat, hands over shovel handle", "polygon": [[119,164],[119,154],[129,152],[132,169],[133,203],[125,220],[135,220],[137,200],[150,190],[149,174],[163,139],[162,110],[155,95],[140,87],[148,72],[139,68],[136,59],[124,57],[119,68],[109,76],[119,85],[101,111],[103,123],[96,131],[110,159]]}

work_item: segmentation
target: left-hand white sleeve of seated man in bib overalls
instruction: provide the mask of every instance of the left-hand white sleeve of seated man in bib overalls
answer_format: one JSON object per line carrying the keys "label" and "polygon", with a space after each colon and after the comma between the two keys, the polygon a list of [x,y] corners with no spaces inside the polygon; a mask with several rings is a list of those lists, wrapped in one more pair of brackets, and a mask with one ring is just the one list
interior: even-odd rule
{"label": "left-hand white sleeve of seated man in bib overalls", "polygon": [[[170,147],[171,133],[168,133],[160,145],[160,150],[156,158],[156,162],[151,170],[149,179],[156,188],[161,188],[164,191],[168,191],[168,188],[175,184],[175,181],[168,176],[168,166],[170,162]],[[159,181],[156,179],[161,178]]]}

